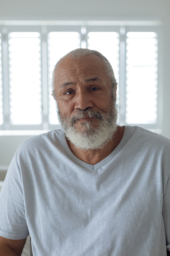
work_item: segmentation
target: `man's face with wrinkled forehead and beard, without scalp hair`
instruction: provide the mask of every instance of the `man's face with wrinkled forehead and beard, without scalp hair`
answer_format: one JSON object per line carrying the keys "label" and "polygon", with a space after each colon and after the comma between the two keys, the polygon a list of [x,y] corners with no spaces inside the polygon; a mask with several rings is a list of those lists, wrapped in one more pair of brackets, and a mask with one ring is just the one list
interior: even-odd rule
{"label": "man's face with wrinkled forehead and beard, without scalp hair", "polygon": [[[113,126],[115,131],[116,110],[113,99],[116,98],[116,91],[113,92],[111,81],[103,70],[103,63],[97,56],[82,59],[66,57],[56,69],[54,89],[59,120],[67,138],[74,145],[76,142],[70,139],[72,135],[68,136],[68,133],[74,133],[74,137],[79,136],[79,141],[82,136],[85,137],[85,141],[89,136],[93,136],[93,139],[90,137],[89,140],[96,143],[99,130],[102,136],[105,126],[110,126],[109,134],[111,130],[113,132]],[[68,132],[69,128],[71,130]],[[78,144],[82,143],[81,141]]]}

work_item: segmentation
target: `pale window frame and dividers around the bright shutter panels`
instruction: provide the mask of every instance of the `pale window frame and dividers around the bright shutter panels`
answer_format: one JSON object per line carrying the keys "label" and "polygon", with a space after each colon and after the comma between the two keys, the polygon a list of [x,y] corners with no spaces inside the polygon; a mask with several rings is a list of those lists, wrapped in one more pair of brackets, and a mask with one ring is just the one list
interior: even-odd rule
{"label": "pale window frame and dividers around the bright shutter panels", "polygon": [[[73,23],[73,22],[72,22]],[[22,24],[22,22],[21,22]],[[119,64],[119,92],[120,92],[120,102],[119,102],[119,125],[137,125],[146,129],[162,129],[162,113],[163,113],[163,86],[162,86],[162,63],[163,63],[163,42],[162,42],[162,23],[156,22],[151,24],[151,21],[146,23],[134,22],[117,22],[108,25],[107,21],[102,21],[95,25],[93,22],[75,22],[75,25],[65,22],[62,25],[55,22],[52,25],[48,25],[46,22],[41,22],[39,25],[0,25],[1,33],[1,47],[2,47],[2,90],[3,90],[3,116],[4,123],[0,125],[0,130],[51,130],[59,128],[60,125],[52,125],[48,122],[48,94],[49,94],[49,81],[51,77],[48,77],[48,33],[53,31],[71,31],[79,32],[81,35],[81,41],[85,40],[88,42],[88,32],[98,32],[98,31],[114,31],[119,33],[119,45],[120,45],[120,64]],[[148,24],[148,25],[147,25]],[[138,26],[137,26],[138,25]],[[81,27],[86,27],[86,34],[81,34]],[[125,29],[125,34],[120,33],[120,29]],[[5,29],[7,33],[5,34]],[[2,32],[3,31],[3,32]],[[125,71],[126,71],[126,33],[127,32],[156,32],[158,34],[158,98],[157,98],[157,123],[156,124],[126,124],[125,122]],[[41,41],[41,86],[42,86],[42,124],[40,125],[12,125],[10,124],[10,108],[9,108],[9,77],[8,77],[8,33],[10,32],[39,32]],[[6,47],[6,54],[5,49]],[[88,48],[88,44],[86,46]],[[124,55],[122,55],[122,49]],[[52,97],[52,96],[51,96]],[[5,99],[5,100],[4,100]]]}

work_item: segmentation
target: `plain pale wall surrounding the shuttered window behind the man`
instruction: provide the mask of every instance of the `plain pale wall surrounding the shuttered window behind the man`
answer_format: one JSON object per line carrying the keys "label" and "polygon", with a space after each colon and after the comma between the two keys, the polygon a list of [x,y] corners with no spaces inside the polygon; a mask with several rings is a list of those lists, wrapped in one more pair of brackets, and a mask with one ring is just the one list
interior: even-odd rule
{"label": "plain pale wall surrounding the shuttered window behind the man", "polygon": [[[169,0],[1,0],[0,19],[146,19],[163,20],[163,135],[170,139],[170,1]],[[0,165],[8,165],[21,137],[0,138]],[[11,145],[14,145],[10,150]]]}

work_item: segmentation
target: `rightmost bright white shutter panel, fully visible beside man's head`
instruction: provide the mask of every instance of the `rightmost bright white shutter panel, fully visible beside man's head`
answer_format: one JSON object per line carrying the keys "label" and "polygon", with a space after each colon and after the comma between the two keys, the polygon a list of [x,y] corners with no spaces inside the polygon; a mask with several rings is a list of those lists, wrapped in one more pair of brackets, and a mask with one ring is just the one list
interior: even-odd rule
{"label": "rightmost bright white shutter panel, fully visible beside man's head", "polygon": [[126,123],[157,122],[158,40],[154,32],[128,32],[126,40]]}

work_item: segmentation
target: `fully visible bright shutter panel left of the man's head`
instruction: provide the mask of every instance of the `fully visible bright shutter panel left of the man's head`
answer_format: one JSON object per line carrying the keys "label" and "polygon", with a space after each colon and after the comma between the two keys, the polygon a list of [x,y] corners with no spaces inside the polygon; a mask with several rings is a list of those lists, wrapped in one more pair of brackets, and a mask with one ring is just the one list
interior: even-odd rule
{"label": "fully visible bright shutter panel left of the man's head", "polygon": [[42,122],[41,54],[38,32],[9,33],[10,123]]}

